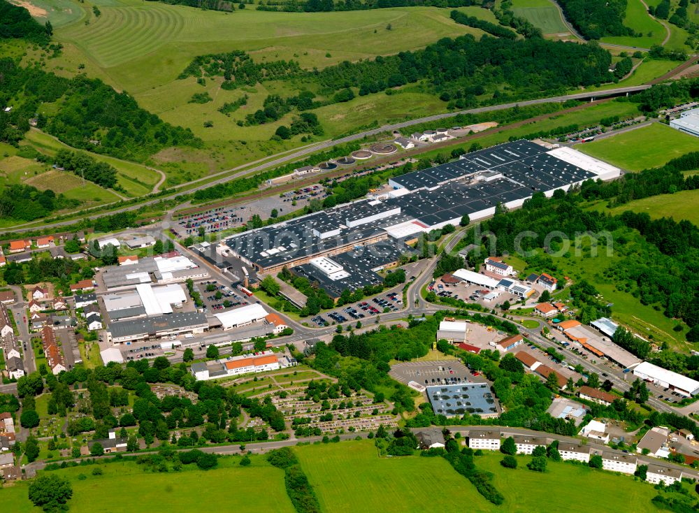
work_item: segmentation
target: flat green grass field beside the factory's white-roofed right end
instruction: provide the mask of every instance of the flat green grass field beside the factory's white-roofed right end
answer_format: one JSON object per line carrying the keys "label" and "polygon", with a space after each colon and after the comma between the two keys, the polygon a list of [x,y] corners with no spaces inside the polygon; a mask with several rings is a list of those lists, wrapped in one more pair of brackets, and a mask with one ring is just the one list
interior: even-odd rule
{"label": "flat green grass field beside the factory's white-roofed right end", "polygon": [[653,123],[649,127],[577,145],[582,151],[628,171],[662,166],[687,152],[699,151],[699,138]]}

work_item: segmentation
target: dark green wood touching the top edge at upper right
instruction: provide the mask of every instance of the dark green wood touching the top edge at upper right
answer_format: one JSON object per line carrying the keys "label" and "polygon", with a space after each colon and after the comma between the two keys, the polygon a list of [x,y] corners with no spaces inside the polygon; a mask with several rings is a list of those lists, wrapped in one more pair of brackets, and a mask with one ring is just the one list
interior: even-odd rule
{"label": "dark green wood touching the top edge at upper right", "polygon": [[636,36],[624,25],[626,0],[559,0],[566,19],[586,39],[603,36]]}

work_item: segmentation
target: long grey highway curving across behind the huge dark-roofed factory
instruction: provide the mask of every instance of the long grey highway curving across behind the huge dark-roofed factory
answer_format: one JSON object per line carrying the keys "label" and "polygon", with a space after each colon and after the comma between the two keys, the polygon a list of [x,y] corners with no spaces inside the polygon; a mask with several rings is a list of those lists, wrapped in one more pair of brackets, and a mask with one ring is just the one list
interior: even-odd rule
{"label": "long grey highway curving across behind the huge dark-roofed factory", "polygon": [[[376,129],[371,129],[359,133],[354,133],[351,136],[346,136],[343,138],[335,139],[335,140],[326,140],[322,143],[318,143],[317,145],[310,145],[307,147],[303,147],[300,150],[297,150],[292,153],[285,153],[283,154],[282,157],[278,157],[276,159],[273,159],[271,161],[266,161],[264,164],[259,164],[257,166],[254,166],[252,168],[246,168],[243,171],[238,171],[237,173],[233,173],[231,175],[225,175],[222,176],[222,178],[219,178],[217,180],[213,180],[211,182],[207,182],[202,185],[197,185],[196,187],[193,187],[192,189],[187,189],[187,194],[199,191],[201,189],[206,189],[208,187],[211,187],[212,185],[217,185],[225,182],[229,182],[231,180],[235,180],[236,178],[240,178],[241,176],[244,175],[249,175],[251,173],[258,173],[259,171],[266,171],[270,168],[275,168],[279,166],[280,164],[285,164],[287,162],[291,161],[296,161],[300,159],[301,157],[305,157],[308,154],[312,154],[315,152],[318,152],[320,150],[326,150],[330,147],[333,147],[334,145],[338,144],[344,144],[344,143],[349,143],[354,140],[360,140],[368,136],[374,136],[377,135],[378,133],[384,133],[384,132],[390,132],[398,129],[403,129],[406,127],[412,127],[415,124],[421,124],[425,122],[431,122],[431,121],[439,121],[439,120],[448,120],[449,118],[455,117],[459,114],[477,114],[477,113],[487,113],[487,112],[493,112],[495,110],[502,110],[505,108],[512,108],[515,106],[531,106],[531,105],[540,105],[542,103],[561,103],[563,101],[568,101],[568,100],[585,100],[585,99],[598,99],[598,98],[605,98],[607,96],[619,96],[621,94],[626,94],[626,93],[633,93],[633,92],[639,92],[644,89],[648,89],[651,87],[651,85],[637,85],[633,87],[616,87],[614,89],[607,89],[605,91],[593,91],[593,92],[581,92],[581,93],[575,93],[575,94],[564,94],[561,96],[551,96],[549,98],[539,98],[539,99],[533,99],[533,100],[526,100],[526,101],[517,101],[517,102],[511,102],[511,103],[501,103],[499,105],[491,105],[491,106],[484,106],[484,107],[478,107],[478,108],[473,108],[473,109],[467,109],[467,110],[459,110],[451,113],[442,113],[442,114],[435,114],[431,116],[425,116],[425,117],[419,117],[415,120],[407,120],[399,123],[394,123],[394,124],[386,124],[382,127],[376,128]],[[240,168],[240,166],[238,166]],[[238,169],[238,168],[233,168],[233,170]],[[233,170],[228,170],[228,171],[223,171],[222,173],[228,173],[229,171]],[[105,215],[113,215],[118,212],[130,212],[132,210],[138,210],[139,208],[145,206],[145,205],[153,205],[155,203],[159,203],[160,201],[166,201],[170,200],[173,198],[177,198],[183,194],[183,192],[175,192],[173,194],[168,194],[166,196],[161,196],[159,198],[154,198],[150,199],[147,201],[143,201],[141,203],[136,203],[134,205],[129,205],[123,208],[118,208],[115,210],[111,210],[108,212],[97,212],[91,215],[87,215],[85,218],[86,219],[96,219],[98,217],[103,217]],[[105,207],[108,205],[104,205]],[[104,207],[103,207],[104,208]],[[54,223],[45,223],[41,226],[41,228],[57,228],[59,226],[69,226],[71,224],[75,224],[77,222],[75,219],[67,220],[67,221],[61,221],[61,222],[54,222]],[[0,234],[2,233],[8,233],[8,232],[13,232],[13,233],[23,233],[26,231],[34,231],[36,230],[36,226],[31,226],[31,227],[22,227],[22,226],[17,226],[17,227],[12,227],[9,229],[5,229],[0,231]]]}

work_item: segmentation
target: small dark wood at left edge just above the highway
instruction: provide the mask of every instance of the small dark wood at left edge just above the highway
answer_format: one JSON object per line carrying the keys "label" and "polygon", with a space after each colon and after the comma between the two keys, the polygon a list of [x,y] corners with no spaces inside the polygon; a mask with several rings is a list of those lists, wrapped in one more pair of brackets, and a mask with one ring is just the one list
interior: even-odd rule
{"label": "small dark wood at left edge just above the highway", "polygon": [[77,200],[56,194],[51,189],[38,190],[31,185],[11,184],[0,192],[0,218],[33,221],[56,210],[80,205]]}

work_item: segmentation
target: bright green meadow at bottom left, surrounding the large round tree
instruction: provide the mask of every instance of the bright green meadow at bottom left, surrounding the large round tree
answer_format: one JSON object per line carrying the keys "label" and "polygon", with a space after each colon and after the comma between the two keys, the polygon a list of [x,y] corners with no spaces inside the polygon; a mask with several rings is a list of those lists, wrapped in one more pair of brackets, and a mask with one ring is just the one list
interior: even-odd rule
{"label": "bright green meadow at bottom left, surrounding the large round tree", "polygon": [[[237,465],[239,458],[231,458],[206,472],[189,469],[178,472],[176,479],[170,473],[146,474],[141,465],[131,462],[100,465],[103,474],[97,476],[92,475],[92,465],[57,472],[73,486],[71,513],[149,510],[294,513],[284,490],[284,472],[262,458],[252,460],[252,465],[243,468]],[[78,479],[81,474],[87,479]],[[41,512],[29,502],[28,486],[28,482],[18,482],[0,489],[0,503],[13,513]],[[125,490],[129,493],[124,493]]]}

